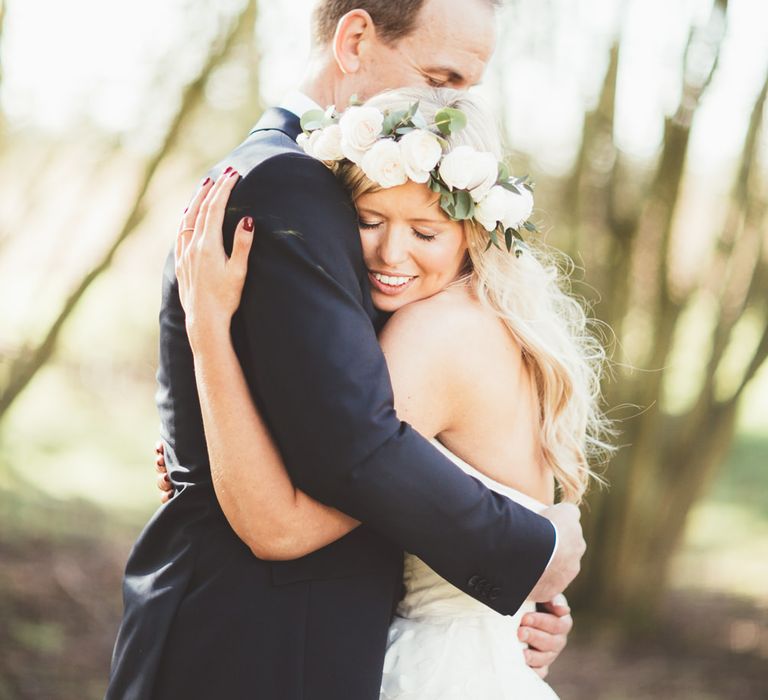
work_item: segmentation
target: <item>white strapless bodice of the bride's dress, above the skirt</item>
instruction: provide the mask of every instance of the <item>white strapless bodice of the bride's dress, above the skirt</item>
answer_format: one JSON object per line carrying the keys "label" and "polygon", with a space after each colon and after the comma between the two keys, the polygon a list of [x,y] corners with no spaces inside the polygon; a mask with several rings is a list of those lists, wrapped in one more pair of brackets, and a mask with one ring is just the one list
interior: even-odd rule
{"label": "white strapless bodice of the bride's dress, above the skirt", "polygon": [[[438,440],[432,443],[456,466],[470,476],[475,477],[489,489],[507,496],[522,506],[539,512],[547,506],[534,498],[506,486],[482,472],[451,452]],[[397,614],[405,618],[463,616],[463,615],[497,615],[479,600],[467,595],[446,581],[433,569],[427,566],[421,559],[413,554],[406,553],[403,570],[405,584],[405,596],[400,602]],[[532,605],[524,605],[521,613],[532,609]]]}

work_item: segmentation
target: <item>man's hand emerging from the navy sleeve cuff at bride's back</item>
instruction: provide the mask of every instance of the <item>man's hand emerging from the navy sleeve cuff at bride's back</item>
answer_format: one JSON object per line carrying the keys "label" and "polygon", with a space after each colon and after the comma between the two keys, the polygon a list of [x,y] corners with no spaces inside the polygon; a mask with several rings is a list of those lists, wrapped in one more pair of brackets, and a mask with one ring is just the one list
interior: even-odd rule
{"label": "man's hand emerging from the navy sleeve cuff at bride's back", "polygon": [[581,568],[581,558],[587,549],[581,532],[581,513],[572,503],[558,503],[541,512],[557,529],[557,549],[529,598],[546,603],[562,593]]}

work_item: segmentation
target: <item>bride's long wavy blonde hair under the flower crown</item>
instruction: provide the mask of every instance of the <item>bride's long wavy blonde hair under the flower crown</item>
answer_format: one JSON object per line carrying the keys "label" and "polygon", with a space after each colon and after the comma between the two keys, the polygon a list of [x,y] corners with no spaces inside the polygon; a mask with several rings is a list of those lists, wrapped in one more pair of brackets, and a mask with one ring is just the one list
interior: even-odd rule
{"label": "bride's long wavy blonde hair under the flower crown", "polygon": [[[419,102],[428,122],[443,107],[460,109],[467,126],[448,137],[449,150],[471,146],[502,158],[501,139],[490,110],[467,92],[446,88],[407,88],[381,93],[365,104],[405,109]],[[356,165],[331,166],[352,198],[380,189]],[[606,353],[585,306],[570,293],[574,264],[567,255],[534,240],[519,258],[506,249],[487,248],[488,233],[464,222],[468,260],[456,284],[469,284],[480,301],[504,321],[517,339],[535,382],[546,465],[561,500],[580,503],[590,479],[602,481],[591,464],[602,463],[615,449],[615,431],[600,410],[600,378]],[[532,238],[531,236],[528,237]]]}

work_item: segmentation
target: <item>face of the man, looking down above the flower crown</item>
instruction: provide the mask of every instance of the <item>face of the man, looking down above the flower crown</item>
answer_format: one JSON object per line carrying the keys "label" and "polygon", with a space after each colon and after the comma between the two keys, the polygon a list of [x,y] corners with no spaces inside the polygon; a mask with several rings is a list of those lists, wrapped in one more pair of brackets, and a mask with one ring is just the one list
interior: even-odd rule
{"label": "face of the man, looking down above the flower crown", "polygon": [[373,39],[358,95],[397,87],[468,88],[480,82],[495,44],[495,11],[488,0],[427,0],[414,30],[394,43]]}

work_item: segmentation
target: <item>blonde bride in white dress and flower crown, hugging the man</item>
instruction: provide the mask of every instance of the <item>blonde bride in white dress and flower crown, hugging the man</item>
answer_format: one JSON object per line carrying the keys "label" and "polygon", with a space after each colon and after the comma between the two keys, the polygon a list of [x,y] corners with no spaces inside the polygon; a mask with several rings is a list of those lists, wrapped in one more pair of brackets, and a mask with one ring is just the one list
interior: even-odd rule
{"label": "blonde bride in white dress and flower crown, hugging the man", "polygon": [[[352,195],[371,297],[392,314],[379,340],[399,418],[530,509],[556,493],[579,503],[591,458],[610,450],[598,407],[605,355],[556,257],[522,241],[520,231],[535,230],[532,194],[500,165],[487,111],[466,93],[398,90],[340,120],[329,110],[302,124],[303,148]],[[226,255],[221,228],[237,181],[225,172],[191,203],[195,227],[177,238],[179,293],[222,508],[257,556],[294,559],[359,523],[294,488],[233,349],[258,235],[243,219]],[[517,641],[533,603],[500,615],[405,557],[382,700],[556,698]]]}

